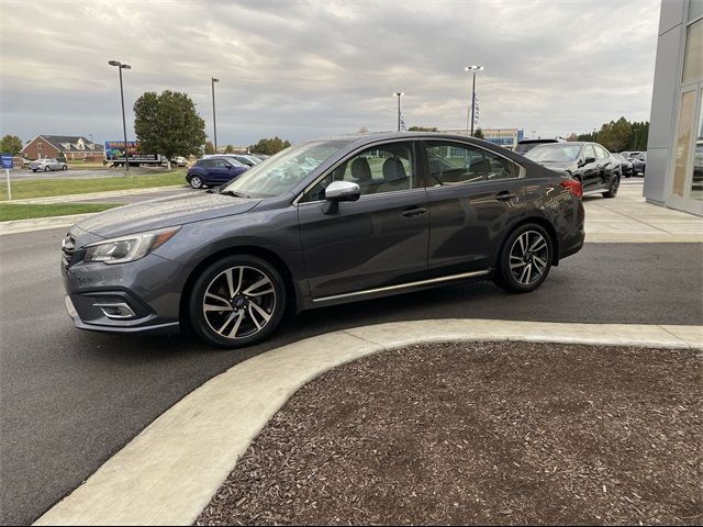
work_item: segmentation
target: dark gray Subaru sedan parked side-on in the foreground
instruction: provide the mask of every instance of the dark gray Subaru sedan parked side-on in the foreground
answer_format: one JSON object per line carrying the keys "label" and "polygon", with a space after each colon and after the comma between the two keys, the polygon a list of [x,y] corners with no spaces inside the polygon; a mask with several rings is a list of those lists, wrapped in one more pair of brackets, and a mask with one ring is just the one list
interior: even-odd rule
{"label": "dark gray Subaru sedan parked side-on in the foreground", "polygon": [[213,193],[96,214],[63,244],[77,327],[236,348],[301,312],[466,280],[538,288],[581,249],[580,183],[490,143],[393,133],[313,141]]}

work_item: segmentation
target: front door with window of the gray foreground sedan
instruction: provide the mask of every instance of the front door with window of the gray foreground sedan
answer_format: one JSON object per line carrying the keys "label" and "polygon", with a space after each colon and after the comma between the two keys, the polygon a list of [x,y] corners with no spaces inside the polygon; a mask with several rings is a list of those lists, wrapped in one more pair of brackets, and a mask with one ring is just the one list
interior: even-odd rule
{"label": "front door with window of the gray foreground sedan", "polygon": [[[401,141],[355,153],[303,195],[298,216],[313,299],[424,276],[429,214],[415,148]],[[324,189],[334,180],[358,183],[359,200],[328,211]]]}

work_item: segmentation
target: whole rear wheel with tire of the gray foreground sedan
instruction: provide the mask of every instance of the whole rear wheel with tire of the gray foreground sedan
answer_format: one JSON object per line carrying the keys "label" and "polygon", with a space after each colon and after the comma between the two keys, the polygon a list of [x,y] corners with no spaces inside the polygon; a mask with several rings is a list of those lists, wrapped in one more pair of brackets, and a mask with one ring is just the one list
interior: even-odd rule
{"label": "whole rear wheel with tire of the gray foreground sedan", "polygon": [[544,282],[551,269],[549,233],[535,223],[516,228],[501,250],[495,283],[511,293],[528,293]]}

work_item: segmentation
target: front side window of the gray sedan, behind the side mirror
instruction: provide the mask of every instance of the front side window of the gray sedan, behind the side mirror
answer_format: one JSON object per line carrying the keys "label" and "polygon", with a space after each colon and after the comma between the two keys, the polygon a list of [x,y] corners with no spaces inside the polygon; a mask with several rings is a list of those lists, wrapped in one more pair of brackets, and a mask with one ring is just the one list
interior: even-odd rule
{"label": "front side window of the gray sedan, behind the side mirror", "polygon": [[303,202],[322,201],[332,181],[352,181],[361,195],[380,194],[417,187],[415,156],[411,142],[373,146],[346,159],[303,197]]}

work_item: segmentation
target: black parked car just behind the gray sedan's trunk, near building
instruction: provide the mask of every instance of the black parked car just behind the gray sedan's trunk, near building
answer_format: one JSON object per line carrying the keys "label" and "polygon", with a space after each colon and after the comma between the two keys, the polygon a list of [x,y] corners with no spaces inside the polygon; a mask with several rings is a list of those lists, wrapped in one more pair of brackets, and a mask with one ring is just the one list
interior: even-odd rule
{"label": "black parked car just behind the gray sedan's trunk, near building", "polygon": [[562,170],[583,187],[583,193],[615,198],[622,179],[621,164],[598,143],[558,143],[536,146],[525,157],[553,170]]}

